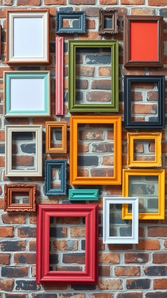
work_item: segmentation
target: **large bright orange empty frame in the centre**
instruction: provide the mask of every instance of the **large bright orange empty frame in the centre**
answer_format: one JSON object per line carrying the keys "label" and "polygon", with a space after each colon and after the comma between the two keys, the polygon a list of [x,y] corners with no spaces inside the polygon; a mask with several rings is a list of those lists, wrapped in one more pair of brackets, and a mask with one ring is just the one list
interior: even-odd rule
{"label": "large bright orange empty frame in the centre", "polygon": [[[78,124],[114,124],[114,176],[77,176]],[[121,184],[121,116],[70,117],[70,184]]]}

